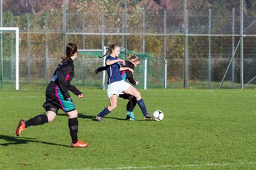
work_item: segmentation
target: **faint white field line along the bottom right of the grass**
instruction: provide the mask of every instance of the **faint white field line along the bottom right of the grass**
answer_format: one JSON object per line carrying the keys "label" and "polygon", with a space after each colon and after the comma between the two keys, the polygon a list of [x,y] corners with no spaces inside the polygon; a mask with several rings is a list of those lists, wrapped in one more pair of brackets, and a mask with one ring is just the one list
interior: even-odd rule
{"label": "faint white field line along the bottom right of the grass", "polygon": [[183,164],[183,165],[163,165],[163,166],[126,166],[117,168],[84,168],[84,169],[65,169],[65,170],[114,170],[114,169],[176,169],[176,168],[188,168],[188,167],[210,167],[210,166],[240,166],[240,165],[252,165],[256,162],[240,162],[240,163],[209,163],[209,164]]}

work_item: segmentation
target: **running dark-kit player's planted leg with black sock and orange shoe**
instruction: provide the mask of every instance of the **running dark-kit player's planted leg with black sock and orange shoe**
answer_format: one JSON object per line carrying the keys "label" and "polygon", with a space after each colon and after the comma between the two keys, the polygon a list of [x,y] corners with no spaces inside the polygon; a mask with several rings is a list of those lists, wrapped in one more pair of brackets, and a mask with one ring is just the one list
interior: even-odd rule
{"label": "running dark-kit player's planted leg with black sock and orange shoe", "polygon": [[68,114],[68,128],[70,129],[70,136],[72,139],[71,147],[87,147],[88,143],[83,143],[78,140],[78,111],[75,109],[73,111],[66,112]]}

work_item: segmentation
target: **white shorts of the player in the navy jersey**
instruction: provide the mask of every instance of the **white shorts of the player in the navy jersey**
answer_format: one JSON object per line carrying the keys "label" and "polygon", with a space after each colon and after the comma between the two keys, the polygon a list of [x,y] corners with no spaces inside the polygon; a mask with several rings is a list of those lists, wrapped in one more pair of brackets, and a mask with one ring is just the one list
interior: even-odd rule
{"label": "white shorts of the player in the navy jersey", "polygon": [[126,81],[120,80],[116,81],[112,84],[107,85],[107,96],[111,98],[114,94],[124,94],[131,84],[127,83]]}

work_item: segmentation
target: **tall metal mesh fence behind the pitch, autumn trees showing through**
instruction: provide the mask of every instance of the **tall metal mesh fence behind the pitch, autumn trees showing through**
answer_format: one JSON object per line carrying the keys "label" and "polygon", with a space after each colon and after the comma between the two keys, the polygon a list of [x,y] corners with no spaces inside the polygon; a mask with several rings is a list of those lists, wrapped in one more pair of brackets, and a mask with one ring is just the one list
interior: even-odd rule
{"label": "tall metal mesh fence behind the pitch, autumn trees showing through", "polygon": [[[47,84],[65,45],[75,42],[84,50],[114,43],[149,56],[134,74],[139,87],[146,76],[149,88],[244,89],[255,87],[255,6],[252,0],[3,0],[1,26],[20,29],[23,86]],[[100,88],[94,75],[100,65],[80,55],[75,84]]]}

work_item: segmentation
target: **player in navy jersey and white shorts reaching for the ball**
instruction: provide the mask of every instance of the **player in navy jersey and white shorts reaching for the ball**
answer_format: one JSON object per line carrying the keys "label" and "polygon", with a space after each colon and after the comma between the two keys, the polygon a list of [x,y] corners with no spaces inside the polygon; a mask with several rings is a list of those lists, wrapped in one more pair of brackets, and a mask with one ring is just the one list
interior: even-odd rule
{"label": "player in navy jersey and white shorts reaching for the ball", "polygon": [[[103,111],[101,111],[96,116],[96,120],[102,122],[102,117],[110,113],[117,107],[117,99],[119,94],[129,94],[137,98],[137,103],[139,108],[142,110],[145,119],[151,119],[151,115],[147,113],[146,106],[142,99],[141,94],[137,89],[135,89],[131,84],[127,83],[127,81],[123,81],[121,74],[119,71],[129,70],[130,72],[134,72],[133,69],[129,67],[121,67],[121,63],[125,64],[124,60],[118,58],[120,53],[120,47],[117,45],[110,45],[108,52],[110,55],[106,58],[107,65],[107,96],[110,98],[110,106],[107,106]],[[107,55],[107,54],[106,54]]]}

